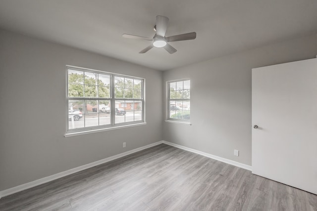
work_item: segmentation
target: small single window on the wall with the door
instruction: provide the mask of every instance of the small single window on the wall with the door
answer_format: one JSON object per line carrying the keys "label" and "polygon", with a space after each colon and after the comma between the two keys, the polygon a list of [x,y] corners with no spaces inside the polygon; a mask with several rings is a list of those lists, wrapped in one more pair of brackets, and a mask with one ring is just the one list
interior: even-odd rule
{"label": "small single window on the wall with the door", "polygon": [[168,120],[189,123],[190,80],[168,82]]}

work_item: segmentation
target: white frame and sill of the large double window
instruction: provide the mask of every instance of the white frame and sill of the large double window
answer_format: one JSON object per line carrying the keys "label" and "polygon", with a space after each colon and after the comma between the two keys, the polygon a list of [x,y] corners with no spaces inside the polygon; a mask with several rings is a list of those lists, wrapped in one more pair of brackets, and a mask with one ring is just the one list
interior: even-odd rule
{"label": "white frame and sill of the large double window", "polygon": [[[84,72],[90,72],[90,73],[110,75],[110,97],[109,98],[69,97],[68,96],[68,70],[76,70],[76,71],[84,71]],[[141,99],[115,98],[114,97],[114,77],[124,77],[124,78],[129,78],[129,79],[141,80],[141,82],[142,82]],[[69,121],[69,114],[68,114],[68,106],[69,106],[68,102],[69,102],[69,100],[109,100],[110,105],[111,105],[110,106],[110,124],[103,125],[103,126],[81,127],[81,128],[69,129],[69,124],[71,124],[71,122]],[[133,122],[125,122],[125,123],[115,123],[115,100],[142,101],[142,120],[133,121]],[[97,108],[98,108],[97,112],[99,112],[99,104],[98,104]],[[80,134],[87,134],[87,133],[92,133],[92,132],[105,131],[105,130],[111,130],[111,129],[124,128],[124,127],[134,127],[134,126],[140,126],[140,125],[145,125],[145,124],[146,124],[146,122],[145,122],[145,79],[139,78],[139,77],[134,77],[134,76],[127,76],[127,75],[105,72],[105,71],[100,71],[100,70],[93,70],[93,69],[88,69],[88,68],[66,65],[66,133],[64,134],[65,137],[80,135]]]}

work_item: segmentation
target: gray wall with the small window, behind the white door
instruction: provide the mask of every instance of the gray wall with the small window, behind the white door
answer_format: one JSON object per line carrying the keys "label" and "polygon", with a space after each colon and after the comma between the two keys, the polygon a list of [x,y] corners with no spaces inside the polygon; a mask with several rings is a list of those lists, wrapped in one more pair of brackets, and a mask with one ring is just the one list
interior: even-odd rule
{"label": "gray wall with the small window, behind the white door", "polygon": [[164,72],[164,102],[166,81],[190,78],[192,126],[163,123],[163,139],[251,165],[251,69],[316,53],[312,35]]}

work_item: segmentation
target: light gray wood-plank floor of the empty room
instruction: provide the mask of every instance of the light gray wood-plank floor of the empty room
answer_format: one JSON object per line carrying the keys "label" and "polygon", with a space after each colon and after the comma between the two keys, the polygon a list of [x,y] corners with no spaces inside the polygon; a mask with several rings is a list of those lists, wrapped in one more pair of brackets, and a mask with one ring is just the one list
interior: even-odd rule
{"label": "light gray wood-plank floor of the empty room", "polygon": [[317,195],[160,144],[0,200],[15,210],[317,211]]}

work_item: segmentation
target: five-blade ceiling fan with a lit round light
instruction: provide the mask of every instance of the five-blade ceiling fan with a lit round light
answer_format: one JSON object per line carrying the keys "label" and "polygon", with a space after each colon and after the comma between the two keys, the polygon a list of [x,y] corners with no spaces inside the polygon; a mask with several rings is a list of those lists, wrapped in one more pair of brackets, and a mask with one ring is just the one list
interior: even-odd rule
{"label": "five-blade ceiling fan with a lit round light", "polygon": [[123,34],[122,37],[152,41],[152,44],[150,44],[149,46],[141,50],[139,53],[148,52],[153,47],[163,47],[170,54],[175,53],[177,50],[174,47],[172,47],[170,44],[168,44],[167,42],[194,40],[196,38],[196,32],[190,32],[186,34],[165,37],[168,20],[169,19],[165,16],[161,16],[161,15],[157,16],[157,24],[154,26],[154,30],[156,31],[156,34],[154,35],[153,38],[146,38],[146,37],[141,37],[137,35],[128,35],[128,34]]}

